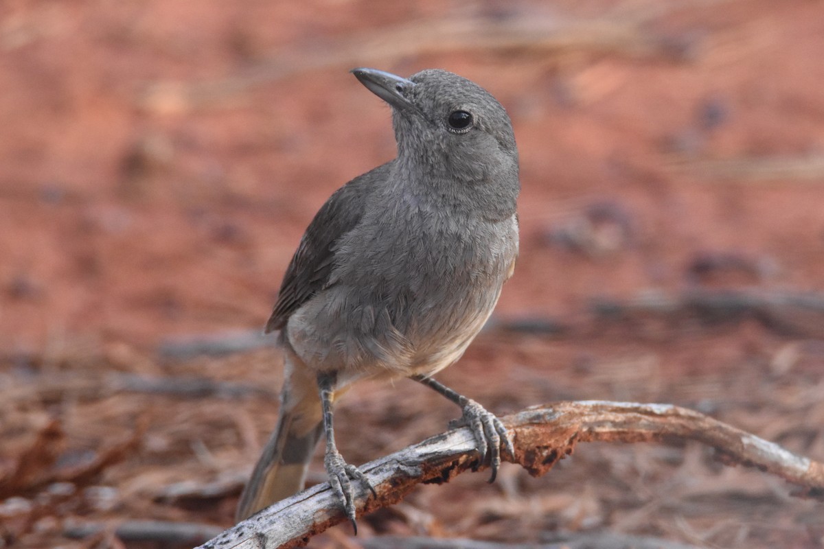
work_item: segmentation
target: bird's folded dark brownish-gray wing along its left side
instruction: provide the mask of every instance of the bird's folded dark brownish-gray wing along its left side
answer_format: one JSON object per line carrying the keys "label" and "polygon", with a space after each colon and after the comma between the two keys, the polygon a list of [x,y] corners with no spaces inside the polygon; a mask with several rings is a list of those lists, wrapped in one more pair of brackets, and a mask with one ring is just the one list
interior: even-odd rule
{"label": "bird's folded dark brownish-gray wing along its left side", "polygon": [[386,181],[388,171],[387,163],[352,179],[315,214],[283,276],[267,333],[283,328],[289,315],[326,287],[335,267],[335,243],[358,225],[369,191]]}

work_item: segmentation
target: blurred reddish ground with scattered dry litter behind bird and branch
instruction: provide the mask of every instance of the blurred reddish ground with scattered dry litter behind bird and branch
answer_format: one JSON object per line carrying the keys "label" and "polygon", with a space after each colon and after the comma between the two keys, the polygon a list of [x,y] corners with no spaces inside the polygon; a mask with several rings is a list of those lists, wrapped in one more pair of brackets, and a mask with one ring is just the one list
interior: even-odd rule
{"label": "blurred reddish ground with scattered dry litter behind bird and branch", "polygon": [[[0,547],[186,547],[137,521],[232,523],[277,416],[260,332],[283,271],[330,193],[395,152],[358,66],[446,68],[513,119],[521,257],[445,383],[500,414],[673,402],[824,458],[822,53],[819,0],[3,0]],[[363,384],[339,446],[364,463],[456,415]],[[485,480],[316,547],[824,547],[820,503],[697,445]]]}

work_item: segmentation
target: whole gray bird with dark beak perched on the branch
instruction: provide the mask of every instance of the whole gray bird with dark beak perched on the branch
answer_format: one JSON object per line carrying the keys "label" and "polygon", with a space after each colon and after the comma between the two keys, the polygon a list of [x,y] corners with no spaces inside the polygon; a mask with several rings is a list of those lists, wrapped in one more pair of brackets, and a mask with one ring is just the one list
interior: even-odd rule
{"label": "whole gray bird with dark beak perched on the branch", "polygon": [[502,442],[513,454],[497,417],[431,377],[461,357],[515,267],[512,123],[489,92],[452,72],[352,72],[391,106],[397,157],[332,194],[289,263],[266,324],[285,357],[280,418],[238,520],[303,489],[322,433],[330,485],[355,526],[351,481],[374,490],[335,446],[332,405],[360,379],[407,377],[455,402],[489,458],[489,482]]}

